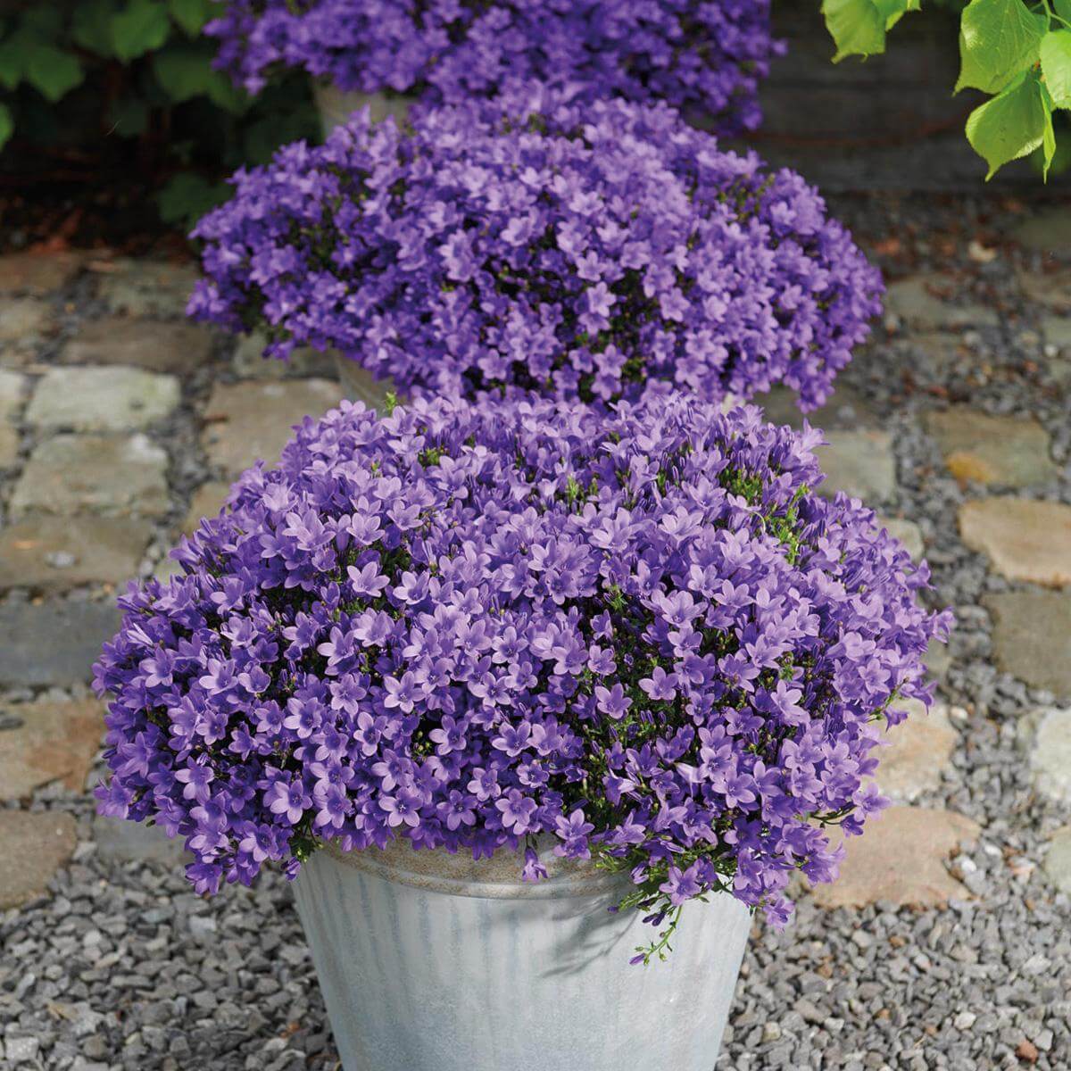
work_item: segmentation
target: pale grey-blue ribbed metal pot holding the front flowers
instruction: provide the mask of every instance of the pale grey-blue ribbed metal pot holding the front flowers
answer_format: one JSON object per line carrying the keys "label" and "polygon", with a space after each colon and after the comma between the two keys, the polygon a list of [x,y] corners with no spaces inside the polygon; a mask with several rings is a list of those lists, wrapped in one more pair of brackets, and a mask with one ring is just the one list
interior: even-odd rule
{"label": "pale grey-blue ribbed metal pot holding the front flowers", "polygon": [[727,894],[689,904],[666,963],[607,908],[628,877],[547,859],[473,862],[396,842],[318,851],[295,883],[346,1071],[710,1071],[751,927]]}

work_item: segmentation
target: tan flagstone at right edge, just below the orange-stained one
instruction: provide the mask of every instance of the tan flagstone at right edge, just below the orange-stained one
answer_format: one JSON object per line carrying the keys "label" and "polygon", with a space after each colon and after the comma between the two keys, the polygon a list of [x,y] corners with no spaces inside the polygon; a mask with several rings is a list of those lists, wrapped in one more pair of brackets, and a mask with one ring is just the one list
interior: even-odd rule
{"label": "tan flagstone at right edge, just below the orange-stained one", "polygon": [[1071,584],[1071,506],[1000,496],[960,508],[960,534],[1011,580]]}

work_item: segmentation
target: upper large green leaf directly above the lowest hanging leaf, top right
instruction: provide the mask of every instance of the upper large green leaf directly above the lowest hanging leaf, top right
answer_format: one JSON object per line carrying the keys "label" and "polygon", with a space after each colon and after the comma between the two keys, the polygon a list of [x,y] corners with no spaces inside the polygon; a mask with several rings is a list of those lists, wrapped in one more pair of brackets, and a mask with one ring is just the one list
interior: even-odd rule
{"label": "upper large green leaf directly above the lowest hanging leaf, top right", "polygon": [[961,89],[999,93],[1038,61],[1047,22],[1023,0],[971,0],[960,20]]}

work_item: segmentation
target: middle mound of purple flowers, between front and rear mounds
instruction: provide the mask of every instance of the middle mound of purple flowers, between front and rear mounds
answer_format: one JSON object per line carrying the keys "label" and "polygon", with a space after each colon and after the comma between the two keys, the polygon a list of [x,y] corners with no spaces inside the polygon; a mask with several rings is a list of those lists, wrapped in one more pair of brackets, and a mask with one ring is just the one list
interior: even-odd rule
{"label": "middle mound of purple flowers, between front and rear mounds", "polygon": [[669,108],[548,100],[439,109],[411,136],[358,114],[240,171],[194,231],[191,314],[267,325],[277,357],[335,348],[407,395],[785,382],[821,404],[881,284],[817,192]]}

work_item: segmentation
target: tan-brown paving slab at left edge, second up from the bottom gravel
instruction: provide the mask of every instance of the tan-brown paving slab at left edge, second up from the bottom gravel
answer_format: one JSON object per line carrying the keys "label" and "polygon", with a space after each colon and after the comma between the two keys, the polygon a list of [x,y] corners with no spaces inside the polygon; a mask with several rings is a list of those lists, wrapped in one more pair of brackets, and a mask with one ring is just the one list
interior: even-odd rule
{"label": "tan-brown paving slab at left edge, second up from the bottom gravel", "polygon": [[95,699],[15,704],[3,708],[0,799],[18,800],[62,781],[81,791],[104,736],[104,708]]}

